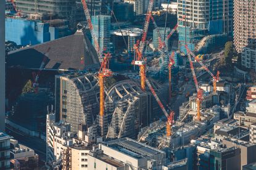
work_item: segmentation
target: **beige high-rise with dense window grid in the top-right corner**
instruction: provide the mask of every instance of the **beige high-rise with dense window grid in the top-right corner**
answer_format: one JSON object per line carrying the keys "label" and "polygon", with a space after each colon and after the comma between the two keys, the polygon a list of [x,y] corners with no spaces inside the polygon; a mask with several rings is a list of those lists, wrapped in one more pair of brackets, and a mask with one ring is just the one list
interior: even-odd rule
{"label": "beige high-rise with dense window grid in the top-right corner", "polygon": [[[234,46],[256,48],[256,0],[234,0]],[[255,61],[254,61],[255,64]]]}

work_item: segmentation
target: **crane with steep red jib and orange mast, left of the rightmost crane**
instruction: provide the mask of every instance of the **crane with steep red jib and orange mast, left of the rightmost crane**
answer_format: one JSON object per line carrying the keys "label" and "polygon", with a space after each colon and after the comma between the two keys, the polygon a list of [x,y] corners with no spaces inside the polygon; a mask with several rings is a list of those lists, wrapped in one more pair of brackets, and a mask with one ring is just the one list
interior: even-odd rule
{"label": "crane with steep red jib and orange mast, left of the rightmost crane", "polygon": [[202,102],[202,98],[203,98],[203,92],[202,92],[202,89],[199,88],[199,85],[198,85],[198,82],[197,82],[197,78],[196,78],[196,73],[195,73],[195,70],[194,70],[194,66],[193,66],[193,63],[192,63],[192,59],[191,59],[191,55],[189,53],[189,48],[188,48],[188,45],[185,45],[185,48],[187,50],[187,53],[188,53],[188,59],[189,59],[189,64],[190,64],[190,68],[191,68],[191,72],[192,72],[192,75],[193,75],[193,79],[194,79],[194,83],[196,85],[196,91],[197,91],[197,120],[201,120],[201,114],[200,114],[200,109],[201,109],[201,102]]}

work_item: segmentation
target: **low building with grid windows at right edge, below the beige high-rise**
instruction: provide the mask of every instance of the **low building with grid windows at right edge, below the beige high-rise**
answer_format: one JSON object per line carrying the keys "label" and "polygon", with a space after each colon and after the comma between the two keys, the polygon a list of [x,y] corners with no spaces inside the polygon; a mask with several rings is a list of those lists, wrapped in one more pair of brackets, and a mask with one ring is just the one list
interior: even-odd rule
{"label": "low building with grid windows at right edge, below the beige high-rise", "polygon": [[[240,41],[238,44],[241,44],[242,42],[244,41]],[[249,69],[254,69],[254,71],[256,71],[256,45],[254,47],[251,46],[242,48],[242,66]]]}

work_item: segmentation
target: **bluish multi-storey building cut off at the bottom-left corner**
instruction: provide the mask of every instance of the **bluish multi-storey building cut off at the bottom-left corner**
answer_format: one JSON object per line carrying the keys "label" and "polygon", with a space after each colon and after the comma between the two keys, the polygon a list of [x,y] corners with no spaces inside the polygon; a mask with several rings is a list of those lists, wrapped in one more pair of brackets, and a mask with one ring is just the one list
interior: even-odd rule
{"label": "bluish multi-storey building cut off at the bottom-left corner", "polygon": [[0,169],[10,169],[10,137],[0,131]]}

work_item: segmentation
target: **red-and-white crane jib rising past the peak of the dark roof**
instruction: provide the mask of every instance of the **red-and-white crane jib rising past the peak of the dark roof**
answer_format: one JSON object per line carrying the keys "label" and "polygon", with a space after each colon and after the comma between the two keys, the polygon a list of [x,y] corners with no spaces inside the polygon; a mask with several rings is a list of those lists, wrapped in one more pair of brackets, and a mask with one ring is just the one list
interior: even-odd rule
{"label": "red-and-white crane jib rising past the peak of the dark roof", "polygon": [[102,62],[102,50],[99,48],[99,42],[97,41],[97,36],[94,32],[94,29],[93,29],[93,23],[91,23],[91,16],[89,14],[89,10],[88,10],[88,6],[85,2],[85,0],[81,0],[82,4],[83,4],[83,10],[85,11],[85,16],[86,16],[86,20],[88,22],[88,25],[89,25],[89,29],[91,31],[91,36],[93,37],[93,42],[94,42],[94,45],[95,45],[95,49],[96,49],[96,52],[97,52],[97,55],[99,57],[99,62]]}

